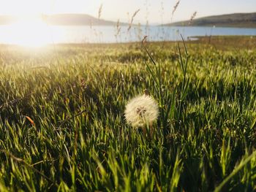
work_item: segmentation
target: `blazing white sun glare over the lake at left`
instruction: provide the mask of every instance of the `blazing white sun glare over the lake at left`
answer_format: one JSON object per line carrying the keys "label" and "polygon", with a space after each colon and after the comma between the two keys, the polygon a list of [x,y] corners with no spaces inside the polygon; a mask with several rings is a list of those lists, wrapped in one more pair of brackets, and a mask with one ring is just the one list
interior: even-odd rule
{"label": "blazing white sun glare over the lake at left", "polygon": [[20,18],[10,26],[9,43],[26,47],[42,47],[50,43],[48,26],[40,18]]}

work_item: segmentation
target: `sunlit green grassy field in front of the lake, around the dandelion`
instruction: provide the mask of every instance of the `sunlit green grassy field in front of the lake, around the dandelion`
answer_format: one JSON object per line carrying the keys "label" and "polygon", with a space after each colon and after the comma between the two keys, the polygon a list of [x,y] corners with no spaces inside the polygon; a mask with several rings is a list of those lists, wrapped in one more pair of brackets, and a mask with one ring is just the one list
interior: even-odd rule
{"label": "sunlit green grassy field in front of the lake, around the dandelion", "polygon": [[[255,43],[1,45],[0,191],[255,191]],[[145,89],[153,134],[124,118]]]}

